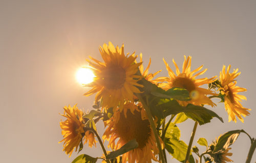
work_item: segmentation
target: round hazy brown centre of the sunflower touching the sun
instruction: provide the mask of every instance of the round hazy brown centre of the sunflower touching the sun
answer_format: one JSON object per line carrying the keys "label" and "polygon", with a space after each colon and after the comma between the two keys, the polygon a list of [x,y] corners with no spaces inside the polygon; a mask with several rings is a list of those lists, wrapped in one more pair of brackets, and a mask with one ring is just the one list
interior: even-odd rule
{"label": "round hazy brown centre of the sunflower touching the sun", "polygon": [[122,67],[106,67],[102,76],[103,86],[108,89],[119,89],[125,82],[125,71]]}

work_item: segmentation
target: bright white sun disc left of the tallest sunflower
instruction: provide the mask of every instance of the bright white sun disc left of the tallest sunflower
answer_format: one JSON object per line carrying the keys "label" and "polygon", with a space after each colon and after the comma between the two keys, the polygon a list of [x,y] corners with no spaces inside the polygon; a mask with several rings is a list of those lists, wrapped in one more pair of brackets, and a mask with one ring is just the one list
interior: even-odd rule
{"label": "bright white sun disc left of the tallest sunflower", "polygon": [[80,68],[76,73],[76,79],[80,84],[89,84],[93,82],[95,75],[89,68]]}

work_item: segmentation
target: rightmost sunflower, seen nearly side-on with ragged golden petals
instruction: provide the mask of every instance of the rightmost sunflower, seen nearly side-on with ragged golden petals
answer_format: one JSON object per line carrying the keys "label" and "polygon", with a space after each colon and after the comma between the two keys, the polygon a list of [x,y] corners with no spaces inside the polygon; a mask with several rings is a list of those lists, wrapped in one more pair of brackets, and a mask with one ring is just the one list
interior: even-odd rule
{"label": "rightmost sunflower, seen nearly side-on with ragged golden petals", "polygon": [[221,82],[221,94],[224,95],[224,104],[225,109],[228,113],[228,122],[231,120],[237,122],[236,116],[242,122],[244,119],[242,116],[248,116],[250,113],[247,110],[249,108],[245,108],[241,105],[239,101],[246,100],[246,97],[243,95],[238,95],[238,92],[246,91],[245,88],[241,88],[236,86],[237,82],[234,80],[241,72],[238,72],[238,69],[233,70],[232,73],[229,73],[230,65],[227,67],[224,65],[222,68],[222,72],[220,72],[220,82]]}

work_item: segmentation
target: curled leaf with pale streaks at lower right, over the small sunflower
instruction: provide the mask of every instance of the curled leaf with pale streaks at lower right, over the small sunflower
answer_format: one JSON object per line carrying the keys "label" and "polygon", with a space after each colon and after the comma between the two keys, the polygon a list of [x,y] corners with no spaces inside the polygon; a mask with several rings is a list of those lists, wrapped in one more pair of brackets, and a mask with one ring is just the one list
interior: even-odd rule
{"label": "curled leaf with pale streaks at lower right, over the small sunflower", "polygon": [[218,139],[218,142],[212,151],[213,153],[218,153],[221,151],[225,151],[230,145],[232,145],[239,137],[241,132],[245,132],[243,129],[241,130],[232,130],[224,133]]}

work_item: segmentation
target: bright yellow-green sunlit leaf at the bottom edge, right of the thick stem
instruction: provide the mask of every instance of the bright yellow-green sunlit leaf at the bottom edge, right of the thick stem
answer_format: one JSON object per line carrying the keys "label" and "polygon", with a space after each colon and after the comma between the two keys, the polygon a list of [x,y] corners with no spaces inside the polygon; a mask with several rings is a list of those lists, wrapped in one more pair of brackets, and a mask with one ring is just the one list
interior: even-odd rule
{"label": "bright yellow-green sunlit leaf at the bottom edge, right of the thick stem", "polygon": [[[165,139],[165,149],[172,154],[174,158],[179,160],[180,162],[184,162],[187,152],[187,145],[183,141],[179,141],[177,139]],[[169,150],[173,149],[173,150]],[[189,155],[189,163],[195,163],[194,157],[190,152]]]}

